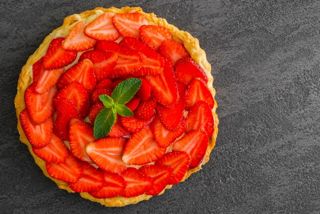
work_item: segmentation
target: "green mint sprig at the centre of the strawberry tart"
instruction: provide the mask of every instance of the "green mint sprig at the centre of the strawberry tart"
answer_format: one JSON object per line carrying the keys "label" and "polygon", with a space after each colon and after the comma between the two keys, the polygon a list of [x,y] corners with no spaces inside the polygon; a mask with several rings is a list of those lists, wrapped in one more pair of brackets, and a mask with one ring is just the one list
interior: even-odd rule
{"label": "green mint sprig at the centre of the strawberry tart", "polygon": [[99,96],[105,108],[96,117],[94,124],[95,138],[106,137],[110,133],[112,125],[116,122],[117,113],[124,117],[133,115],[133,112],[124,104],[132,99],[133,95],[139,90],[141,83],[141,79],[129,78],[117,85],[111,97],[106,94]]}

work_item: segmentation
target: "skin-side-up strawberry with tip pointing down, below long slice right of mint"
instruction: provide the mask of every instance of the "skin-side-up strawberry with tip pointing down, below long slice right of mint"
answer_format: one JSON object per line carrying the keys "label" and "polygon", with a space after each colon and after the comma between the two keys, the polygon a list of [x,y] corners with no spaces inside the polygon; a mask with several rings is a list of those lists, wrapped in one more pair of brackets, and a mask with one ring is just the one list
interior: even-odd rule
{"label": "skin-side-up strawberry with tip pointing down, below long slice right of mint", "polygon": [[182,99],[179,99],[177,104],[169,108],[162,105],[156,106],[156,111],[159,115],[160,121],[169,131],[175,131],[178,129],[184,115],[184,110],[185,105]]}

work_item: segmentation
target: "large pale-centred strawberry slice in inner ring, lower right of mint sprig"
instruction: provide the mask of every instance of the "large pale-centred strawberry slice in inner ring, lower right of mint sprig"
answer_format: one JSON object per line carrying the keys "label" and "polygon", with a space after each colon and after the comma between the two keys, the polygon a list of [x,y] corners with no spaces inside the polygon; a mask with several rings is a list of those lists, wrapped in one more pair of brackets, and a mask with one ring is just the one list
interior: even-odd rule
{"label": "large pale-centred strawberry slice in inner ring, lower right of mint sprig", "polygon": [[163,156],[166,148],[161,148],[153,139],[149,126],[138,133],[133,133],[123,149],[122,160],[133,165],[151,163]]}

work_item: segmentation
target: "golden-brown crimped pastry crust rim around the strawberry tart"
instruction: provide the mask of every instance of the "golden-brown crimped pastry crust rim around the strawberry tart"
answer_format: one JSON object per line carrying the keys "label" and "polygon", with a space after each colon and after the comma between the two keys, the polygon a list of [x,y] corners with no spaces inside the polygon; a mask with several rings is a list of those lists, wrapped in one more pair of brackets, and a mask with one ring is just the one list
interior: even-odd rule
{"label": "golden-brown crimped pastry crust rim around the strawberry tart", "polygon": [[[22,127],[20,125],[19,121],[19,114],[22,110],[26,108],[25,104],[25,91],[28,88],[28,86],[32,83],[32,65],[35,63],[38,59],[40,59],[42,56],[45,55],[45,52],[48,49],[48,46],[52,39],[56,37],[66,37],[67,34],[71,31],[73,26],[81,21],[85,21],[88,23],[92,22],[94,19],[96,19],[98,16],[100,16],[104,12],[113,12],[113,13],[140,13],[143,14],[148,19],[149,25],[158,25],[163,26],[167,28],[170,33],[172,34],[173,40],[180,42],[181,44],[184,44],[188,52],[190,53],[191,57],[203,68],[205,73],[208,76],[208,88],[210,89],[212,96],[215,97],[216,91],[212,87],[213,84],[213,76],[211,75],[211,65],[208,62],[205,52],[200,48],[198,39],[192,37],[190,33],[186,31],[181,31],[178,28],[176,28],[173,25],[170,25],[167,23],[167,20],[164,18],[158,18],[153,13],[145,13],[142,11],[140,7],[123,7],[123,8],[115,8],[111,7],[108,9],[105,8],[96,8],[94,10],[85,11],[80,14],[74,14],[67,16],[64,21],[63,25],[57,29],[55,29],[52,33],[50,33],[45,39],[43,40],[42,44],[39,46],[39,48],[29,57],[26,65],[22,67],[19,80],[18,80],[18,86],[17,86],[17,94],[14,100],[15,108],[16,108],[16,116],[18,119],[17,123],[17,129],[20,133],[20,141],[28,146],[29,152],[33,156],[36,164],[42,169],[42,172],[45,176],[53,180],[59,188],[65,189],[68,192],[74,192],[66,182],[54,179],[49,176],[47,169],[45,168],[45,161],[37,157],[33,151],[31,144],[29,143],[24,131],[22,130]],[[75,60],[77,61],[77,60]],[[75,63],[75,62],[74,62]],[[73,63],[73,64],[74,64]],[[69,65],[68,67],[71,67],[72,65]],[[209,138],[209,145],[207,148],[207,152],[205,153],[205,156],[203,158],[202,164],[205,164],[209,161],[210,153],[215,146],[217,134],[218,134],[218,117],[216,114],[217,109],[217,102],[215,101],[212,114],[214,117],[214,132],[213,135]],[[192,173],[197,172],[201,169],[201,165],[192,169],[188,169],[188,172],[186,173],[185,177],[181,180],[186,180]],[[165,189],[171,188],[172,185],[167,185]],[[159,194],[163,194],[165,189]],[[131,197],[131,198],[124,198],[122,196],[115,197],[115,198],[108,198],[108,199],[97,199],[93,196],[89,195],[87,192],[80,193],[80,196],[85,199],[89,199],[91,201],[99,202],[105,206],[125,206],[128,204],[136,204],[142,200],[149,200],[152,196],[143,194],[137,197]]]}

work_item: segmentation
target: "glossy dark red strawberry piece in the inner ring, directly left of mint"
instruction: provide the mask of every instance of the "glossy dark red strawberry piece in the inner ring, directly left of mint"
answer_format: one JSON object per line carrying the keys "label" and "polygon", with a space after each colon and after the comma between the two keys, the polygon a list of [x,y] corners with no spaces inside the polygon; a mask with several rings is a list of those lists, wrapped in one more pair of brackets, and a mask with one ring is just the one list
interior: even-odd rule
{"label": "glossy dark red strawberry piece in the inner ring, directly left of mint", "polygon": [[75,105],[68,99],[63,99],[57,105],[56,121],[54,125],[55,134],[62,140],[69,140],[69,122],[71,119],[81,119]]}

